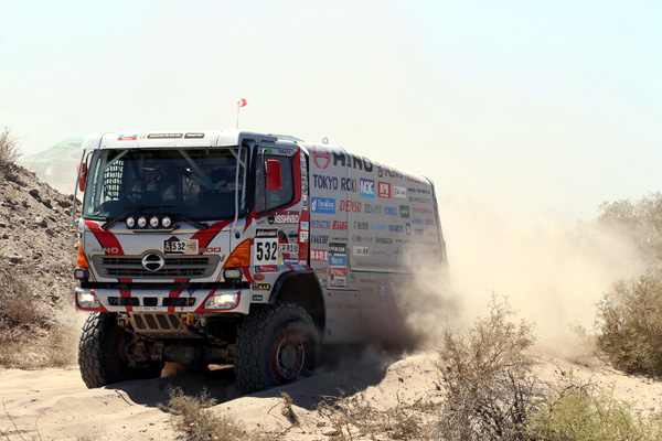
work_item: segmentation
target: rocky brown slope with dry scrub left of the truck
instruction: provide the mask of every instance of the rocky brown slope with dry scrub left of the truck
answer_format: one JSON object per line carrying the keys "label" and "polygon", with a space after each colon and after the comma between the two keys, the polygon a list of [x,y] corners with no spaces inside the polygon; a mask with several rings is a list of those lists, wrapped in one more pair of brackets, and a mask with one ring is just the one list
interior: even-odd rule
{"label": "rocky brown slope with dry scrub left of the truck", "polygon": [[72,201],[33,172],[0,164],[0,366],[74,362]]}

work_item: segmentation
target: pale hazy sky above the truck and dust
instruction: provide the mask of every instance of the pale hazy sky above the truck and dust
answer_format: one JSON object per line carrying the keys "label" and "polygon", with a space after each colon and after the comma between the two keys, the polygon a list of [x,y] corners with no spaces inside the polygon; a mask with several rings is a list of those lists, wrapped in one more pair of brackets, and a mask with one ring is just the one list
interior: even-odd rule
{"label": "pale hazy sky above the truck and dust", "polygon": [[[662,3],[0,2],[0,127],[327,137],[441,198],[575,219],[660,190]],[[444,207],[441,207],[444,213]]]}

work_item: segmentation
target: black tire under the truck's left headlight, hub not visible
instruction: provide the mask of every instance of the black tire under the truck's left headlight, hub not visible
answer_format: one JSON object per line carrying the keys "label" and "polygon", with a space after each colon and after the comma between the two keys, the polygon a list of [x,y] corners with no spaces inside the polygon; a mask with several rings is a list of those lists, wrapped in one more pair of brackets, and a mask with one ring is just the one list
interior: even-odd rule
{"label": "black tire under the truck's left headlight, hub not visible", "polygon": [[140,367],[128,366],[120,347],[129,338],[130,335],[117,324],[117,314],[89,314],[78,343],[78,366],[88,388],[160,376],[163,367],[160,362],[145,363]]}

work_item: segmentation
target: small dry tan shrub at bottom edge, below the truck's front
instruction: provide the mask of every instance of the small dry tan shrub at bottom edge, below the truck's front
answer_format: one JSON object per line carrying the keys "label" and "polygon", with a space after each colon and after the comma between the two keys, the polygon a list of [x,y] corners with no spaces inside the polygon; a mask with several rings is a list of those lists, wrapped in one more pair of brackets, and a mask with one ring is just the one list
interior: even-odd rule
{"label": "small dry tan shrub at bottom edge, below the truck's front", "polygon": [[248,433],[242,421],[221,413],[210,407],[216,405],[203,389],[197,397],[184,395],[180,388],[170,391],[170,401],[166,407],[171,415],[175,430],[182,431],[188,441],[259,441],[268,438],[259,433]]}

